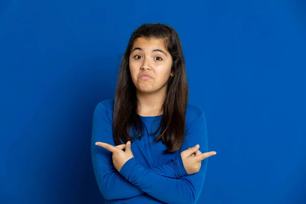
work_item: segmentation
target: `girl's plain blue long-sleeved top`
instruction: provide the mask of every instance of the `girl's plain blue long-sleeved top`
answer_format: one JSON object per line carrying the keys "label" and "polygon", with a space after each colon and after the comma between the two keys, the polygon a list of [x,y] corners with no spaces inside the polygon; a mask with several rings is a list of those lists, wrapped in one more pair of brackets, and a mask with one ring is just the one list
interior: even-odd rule
{"label": "girl's plain blue long-sleeved top", "polygon": [[95,145],[105,142],[115,146],[113,139],[114,100],[101,101],[93,114],[91,154],[98,187],[105,203],[196,203],[203,186],[207,159],[202,160],[199,172],[188,175],[181,152],[200,145],[208,151],[206,118],[202,110],[188,104],[186,110],[185,139],[180,150],[164,154],[166,146],[154,142],[162,116],[140,116],[145,134],[131,145],[134,158],[127,161],[118,172],[112,152]]}

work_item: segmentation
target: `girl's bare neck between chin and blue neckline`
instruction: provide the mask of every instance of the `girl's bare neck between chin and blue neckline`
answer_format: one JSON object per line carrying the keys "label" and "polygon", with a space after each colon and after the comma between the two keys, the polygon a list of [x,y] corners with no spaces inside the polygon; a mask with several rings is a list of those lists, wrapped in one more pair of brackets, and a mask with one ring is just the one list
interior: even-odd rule
{"label": "girl's bare neck between chin and blue neckline", "polygon": [[141,116],[158,116],[163,114],[162,105],[165,99],[165,91],[157,93],[136,92],[138,99],[138,114]]}

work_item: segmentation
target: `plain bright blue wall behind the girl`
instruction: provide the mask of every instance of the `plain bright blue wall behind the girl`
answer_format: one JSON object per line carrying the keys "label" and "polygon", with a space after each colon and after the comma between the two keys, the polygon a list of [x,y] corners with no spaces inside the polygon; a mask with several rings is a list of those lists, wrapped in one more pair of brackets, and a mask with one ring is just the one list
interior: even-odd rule
{"label": "plain bright blue wall behind the girl", "polygon": [[92,114],[146,22],[179,33],[217,151],[198,203],[306,203],[305,13],[297,0],[2,0],[0,203],[103,203]]}

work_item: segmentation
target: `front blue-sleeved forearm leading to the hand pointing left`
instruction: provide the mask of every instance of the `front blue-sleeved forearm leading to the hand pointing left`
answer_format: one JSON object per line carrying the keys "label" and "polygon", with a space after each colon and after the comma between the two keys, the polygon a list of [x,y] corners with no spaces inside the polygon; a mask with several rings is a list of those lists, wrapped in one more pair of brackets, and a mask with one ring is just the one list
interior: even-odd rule
{"label": "front blue-sleeved forearm leading to the hand pointing left", "polygon": [[193,176],[193,180],[189,180],[188,176],[173,179],[145,169],[132,158],[123,165],[120,173],[140,190],[162,202],[194,203],[196,191],[199,190],[196,186],[202,184],[205,169],[188,175]]}

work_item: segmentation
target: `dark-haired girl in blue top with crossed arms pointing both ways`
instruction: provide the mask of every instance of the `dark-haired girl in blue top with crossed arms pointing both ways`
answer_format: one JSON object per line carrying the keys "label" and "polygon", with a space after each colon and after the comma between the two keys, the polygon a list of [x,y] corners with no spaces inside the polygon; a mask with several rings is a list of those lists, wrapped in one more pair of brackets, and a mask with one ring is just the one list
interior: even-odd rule
{"label": "dark-haired girl in blue top with crossed arms pointing both ways", "polygon": [[187,97],[179,36],[165,24],[142,25],[121,61],[115,99],[93,115],[92,163],[106,203],[197,202],[216,152],[207,152],[205,115]]}

